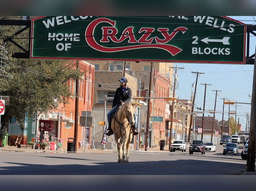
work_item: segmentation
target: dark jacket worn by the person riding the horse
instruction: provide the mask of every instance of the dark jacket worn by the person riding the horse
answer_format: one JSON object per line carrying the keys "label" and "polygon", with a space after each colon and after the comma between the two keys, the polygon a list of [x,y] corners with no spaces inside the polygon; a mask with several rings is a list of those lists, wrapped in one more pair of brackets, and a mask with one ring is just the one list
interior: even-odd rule
{"label": "dark jacket worn by the person riding the horse", "polygon": [[122,87],[120,86],[118,89],[116,89],[112,108],[116,105],[121,104],[121,101],[123,101],[124,103],[128,103],[131,100],[131,97],[132,90],[128,86],[126,86],[126,89],[123,92]]}

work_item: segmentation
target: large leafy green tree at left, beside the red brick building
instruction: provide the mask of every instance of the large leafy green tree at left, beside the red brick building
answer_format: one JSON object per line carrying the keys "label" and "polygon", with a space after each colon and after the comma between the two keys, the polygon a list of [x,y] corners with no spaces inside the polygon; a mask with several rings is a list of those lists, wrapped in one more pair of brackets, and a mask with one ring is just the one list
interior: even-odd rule
{"label": "large leafy green tree at left, beside the red brick building", "polygon": [[[13,37],[20,27],[0,26],[1,39]],[[15,42],[27,48],[28,34],[29,31],[25,31],[24,34],[15,36]],[[21,50],[12,43],[2,45],[7,51],[6,64],[9,66],[4,70],[13,77],[0,75],[0,95],[10,96],[10,105],[6,106],[5,113],[1,116],[1,130],[8,132],[8,120],[11,116],[22,125],[25,115],[34,118],[38,111],[56,108],[56,102],[65,105],[71,95],[69,80],[77,79],[83,74],[76,69],[75,62],[12,58],[14,51]]]}

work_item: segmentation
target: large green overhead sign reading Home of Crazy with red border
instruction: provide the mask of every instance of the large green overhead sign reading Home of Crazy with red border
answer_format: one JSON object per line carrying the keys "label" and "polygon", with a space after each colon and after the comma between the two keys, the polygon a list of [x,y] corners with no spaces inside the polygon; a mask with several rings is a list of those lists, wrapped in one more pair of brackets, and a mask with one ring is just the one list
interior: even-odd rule
{"label": "large green overhead sign reading Home of Crazy with red border", "polygon": [[43,16],[30,58],[245,64],[245,34],[226,16]]}

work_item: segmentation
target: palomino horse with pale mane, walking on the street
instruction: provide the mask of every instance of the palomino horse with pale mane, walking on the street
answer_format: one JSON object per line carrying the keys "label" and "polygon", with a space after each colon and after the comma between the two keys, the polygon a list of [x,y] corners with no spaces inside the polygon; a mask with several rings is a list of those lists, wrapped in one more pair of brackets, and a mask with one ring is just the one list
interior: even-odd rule
{"label": "palomino horse with pale mane, walking on the street", "polygon": [[[118,162],[129,162],[129,143],[132,141],[132,125],[134,120],[134,105],[136,103],[125,103],[121,105],[111,121],[111,128],[114,131],[117,149]],[[121,149],[122,147],[122,149]],[[126,155],[125,155],[126,151]]]}

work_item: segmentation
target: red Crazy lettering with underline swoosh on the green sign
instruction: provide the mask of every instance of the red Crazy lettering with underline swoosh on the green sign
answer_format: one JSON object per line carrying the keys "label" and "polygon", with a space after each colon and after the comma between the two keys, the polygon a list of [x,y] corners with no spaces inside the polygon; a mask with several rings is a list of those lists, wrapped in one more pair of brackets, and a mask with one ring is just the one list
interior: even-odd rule
{"label": "red Crazy lettering with underline swoosh on the green sign", "polygon": [[[100,42],[105,43],[105,42],[109,42],[111,40],[112,42],[120,43],[120,42],[124,41],[125,39],[129,39],[128,40],[129,43],[144,43],[144,44],[123,46],[123,47],[114,47],[114,48],[104,47],[102,45],[99,45],[94,39],[93,32],[98,24],[104,23],[104,22],[112,25],[112,27],[111,26],[110,27],[102,27],[103,36],[102,36],[102,39],[100,40]],[[115,21],[112,21],[107,18],[98,18],[98,19],[95,19],[94,21],[92,21],[87,26],[87,29],[85,32],[85,36],[86,36],[85,38],[86,38],[88,45],[91,46],[93,49],[101,51],[101,52],[119,52],[119,51],[141,49],[141,48],[158,48],[158,49],[165,50],[165,51],[169,52],[172,56],[174,56],[174,55],[178,54],[179,52],[181,52],[182,50],[178,47],[167,45],[165,43],[167,43],[171,39],[173,39],[173,37],[178,32],[182,32],[182,34],[184,34],[187,30],[187,28],[185,28],[185,27],[178,27],[175,30],[173,30],[173,32],[171,32],[169,34],[167,28],[158,28],[157,30],[159,32],[161,32],[161,34],[163,35],[163,39],[160,39],[158,37],[150,38],[150,35],[152,35],[152,33],[154,31],[153,28],[141,28],[138,33],[142,33],[142,32],[145,32],[145,33],[142,34],[142,36],[140,37],[139,40],[136,40],[136,38],[134,36],[134,31],[133,31],[134,28],[127,27],[122,32],[120,39],[118,39],[115,36],[118,33],[117,29],[115,28],[115,25],[116,25]],[[152,41],[154,39],[156,41],[156,44],[150,44],[150,43],[152,43]]]}

